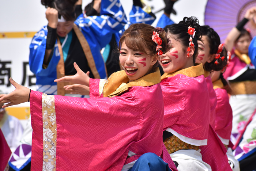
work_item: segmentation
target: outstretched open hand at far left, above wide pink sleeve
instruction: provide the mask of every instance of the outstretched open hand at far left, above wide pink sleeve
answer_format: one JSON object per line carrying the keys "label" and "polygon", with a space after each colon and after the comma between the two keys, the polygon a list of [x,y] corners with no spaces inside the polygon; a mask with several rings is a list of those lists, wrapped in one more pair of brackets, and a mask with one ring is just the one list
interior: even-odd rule
{"label": "outstretched open hand at far left, above wide pink sleeve", "polygon": [[25,103],[29,100],[29,88],[19,85],[12,78],[10,78],[10,82],[16,89],[9,94],[0,95],[0,103],[8,103],[3,108]]}

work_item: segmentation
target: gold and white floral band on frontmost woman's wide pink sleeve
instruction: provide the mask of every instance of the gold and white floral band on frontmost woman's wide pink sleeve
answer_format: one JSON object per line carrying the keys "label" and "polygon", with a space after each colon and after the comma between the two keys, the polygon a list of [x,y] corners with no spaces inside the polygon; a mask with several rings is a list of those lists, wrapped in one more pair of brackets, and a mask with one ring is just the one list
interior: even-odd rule
{"label": "gold and white floral band on frontmost woman's wide pink sleeve", "polygon": [[56,171],[57,123],[53,95],[42,95],[43,171]]}

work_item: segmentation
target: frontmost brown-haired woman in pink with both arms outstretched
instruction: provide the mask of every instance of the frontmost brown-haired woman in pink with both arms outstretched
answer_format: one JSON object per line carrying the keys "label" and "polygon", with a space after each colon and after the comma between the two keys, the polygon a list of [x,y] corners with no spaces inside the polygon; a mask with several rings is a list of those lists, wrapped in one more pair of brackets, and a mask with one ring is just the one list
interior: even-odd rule
{"label": "frontmost brown-haired woman in pink with both arms outstretched", "polygon": [[[147,24],[133,24],[120,39],[123,71],[108,80],[90,79],[74,64],[76,75],[56,80],[89,86],[90,99],[46,95],[10,79],[16,90],[1,95],[0,102],[10,102],[8,107],[30,101],[31,167],[127,171],[144,153],[161,156],[163,98],[155,66],[160,52],[169,50],[165,34]],[[161,166],[170,170],[164,162]]]}

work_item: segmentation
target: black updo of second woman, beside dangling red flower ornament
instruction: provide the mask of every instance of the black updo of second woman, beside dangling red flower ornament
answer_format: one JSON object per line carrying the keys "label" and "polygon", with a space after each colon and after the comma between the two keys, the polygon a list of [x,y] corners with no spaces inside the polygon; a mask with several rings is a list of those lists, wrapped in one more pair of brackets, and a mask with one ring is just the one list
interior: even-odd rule
{"label": "black updo of second woman, beside dangling red flower ornament", "polygon": [[190,43],[189,38],[190,35],[188,34],[188,27],[195,28],[196,34],[193,38],[193,43],[195,47],[195,52],[193,54],[193,62],[195,63],[197,53],[198,53],[198,44],[197,41],[201,41],[202,38],[202,28],[199,25],[199,21],[196,17],[191,16],[190,18],[184,17],[182,21],[178,24],[172,24],[165,26],[164,30],[166,33],[171,34],[172,38],[176,39],[177,41],[181,42],[183,51],[187,54],[188,45]]}

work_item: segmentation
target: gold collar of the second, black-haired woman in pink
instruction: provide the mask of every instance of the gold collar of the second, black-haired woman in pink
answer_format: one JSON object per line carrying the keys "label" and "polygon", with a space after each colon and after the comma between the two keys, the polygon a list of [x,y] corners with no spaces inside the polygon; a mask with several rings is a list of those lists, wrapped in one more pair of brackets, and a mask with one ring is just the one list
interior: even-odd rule
{"label": "gold collar of the second, black-haired woman in pink", "polygon": [[197,77],[197,76],[203,75],[204,74],[203,64],[196,63],[195,66],[191,66],[191,67],[188,67],[188,68],[185,68],[185,69],[181,69],[180,71],[176,71],[176,72],[173,72],[173,73],[170,73],[170,74],[169,73],[164,73],[161,77],[161,80],[164,80],[168,77],[176,76],[178,74],[182,74],[182,75],[185,75],[185,76],[188,76],[188,77]]}

